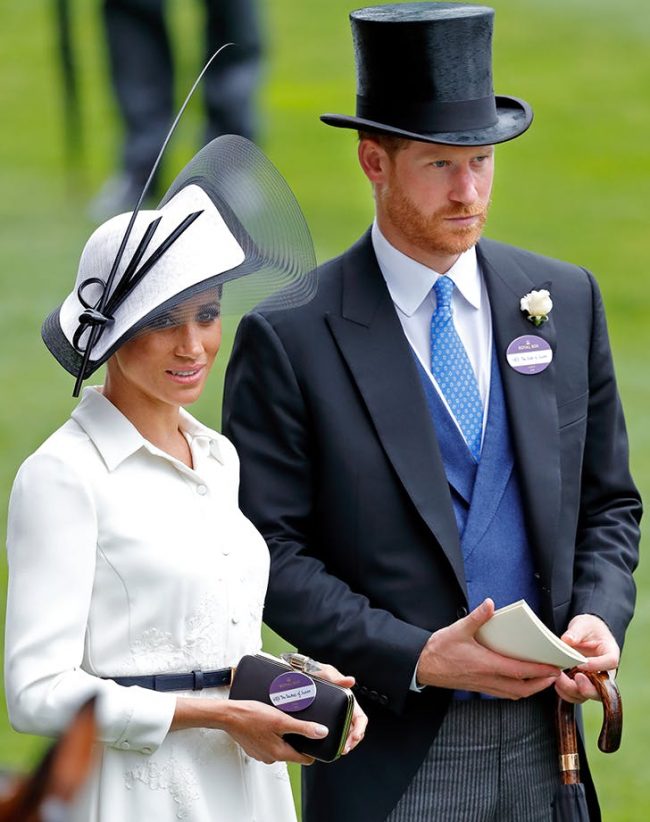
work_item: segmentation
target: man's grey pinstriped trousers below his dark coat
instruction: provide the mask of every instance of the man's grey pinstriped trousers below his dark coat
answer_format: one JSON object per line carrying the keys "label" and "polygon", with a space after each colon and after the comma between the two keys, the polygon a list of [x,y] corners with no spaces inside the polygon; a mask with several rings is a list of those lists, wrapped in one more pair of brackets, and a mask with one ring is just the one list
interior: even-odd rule
{"label": "man's grey pinstriped trousers below his dark coat", "polygon": [[549,822],[559,786],[550,704],[453,701],[386,822]]}

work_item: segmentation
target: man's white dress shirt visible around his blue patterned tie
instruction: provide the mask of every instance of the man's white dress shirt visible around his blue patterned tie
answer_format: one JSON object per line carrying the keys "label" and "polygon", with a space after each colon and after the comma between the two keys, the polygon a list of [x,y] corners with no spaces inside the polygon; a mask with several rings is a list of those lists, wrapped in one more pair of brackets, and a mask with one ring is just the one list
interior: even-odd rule
{"label": "man's white dress shirt visible around his blue patterned tie", "polygon": [[[436,308],[433,286],[442,275],[407,257],[391,245],[381,233],[376,221],[372,226],[372,244],[404,334],[458,426],[444,394],[431,374],[431,317]],[[483,403],[485,430],[487,401],[490,394],[492,320],[476,249],[472,247],[461,254],[446,276],[456,285],[451,302],[454,325],[476,376]],[[458,430],[461,431],[460,426]]]}

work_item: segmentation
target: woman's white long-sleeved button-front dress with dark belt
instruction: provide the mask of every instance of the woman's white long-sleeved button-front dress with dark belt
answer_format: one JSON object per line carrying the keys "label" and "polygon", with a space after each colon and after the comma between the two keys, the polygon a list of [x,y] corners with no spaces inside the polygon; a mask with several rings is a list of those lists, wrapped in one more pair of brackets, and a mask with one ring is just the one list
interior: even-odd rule
{"label": "woman's white long-sleeved button-front dress with dark belt", "polygon": [[286,822],[283,764],[249,760],[223,731],[169,732],[176,693],[100,678],[222,668],[260,648],[269,556],[238,507],[237,454],[181,414],[193,468],[94,388],[21,466],[7,535],[9,714],[54,735],[99,694],[105,749],[74,819]]}

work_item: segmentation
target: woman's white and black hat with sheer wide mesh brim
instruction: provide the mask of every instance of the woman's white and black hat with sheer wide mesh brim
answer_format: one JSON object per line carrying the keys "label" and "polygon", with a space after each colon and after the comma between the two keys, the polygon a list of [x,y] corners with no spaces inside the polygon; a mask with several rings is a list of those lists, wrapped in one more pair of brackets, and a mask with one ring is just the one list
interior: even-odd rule
{"label": "woman's white and black hat with sheer wide mesh brim", "polygon": [[218,137],[183,169],[156,210],[113,217],[90,237],[72,292],[45,320],[45,344],[77,377],[75,395],[127,340],[170,321],[204,292],[229,313],[309,300],[307,224],[288,184],[243,137]]}

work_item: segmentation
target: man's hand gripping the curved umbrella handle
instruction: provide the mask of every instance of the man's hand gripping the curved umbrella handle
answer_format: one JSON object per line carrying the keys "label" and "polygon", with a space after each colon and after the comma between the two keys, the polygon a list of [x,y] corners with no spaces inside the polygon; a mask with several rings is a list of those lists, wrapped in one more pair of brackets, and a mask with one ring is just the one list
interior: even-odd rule
{"label": "man's hand gripping the curved umbrella handle", "polygon": [[[618,668],[620,649],[600,617],[593,614],[573,617],[560,639],[589,657],[588,662],[579,666],[580,670],[614,671]],[[580,703],[599,698],[594,686],[581,673],[577,673],[574,679],[563,673],[555,683],[555,690],[567,702]]]}

